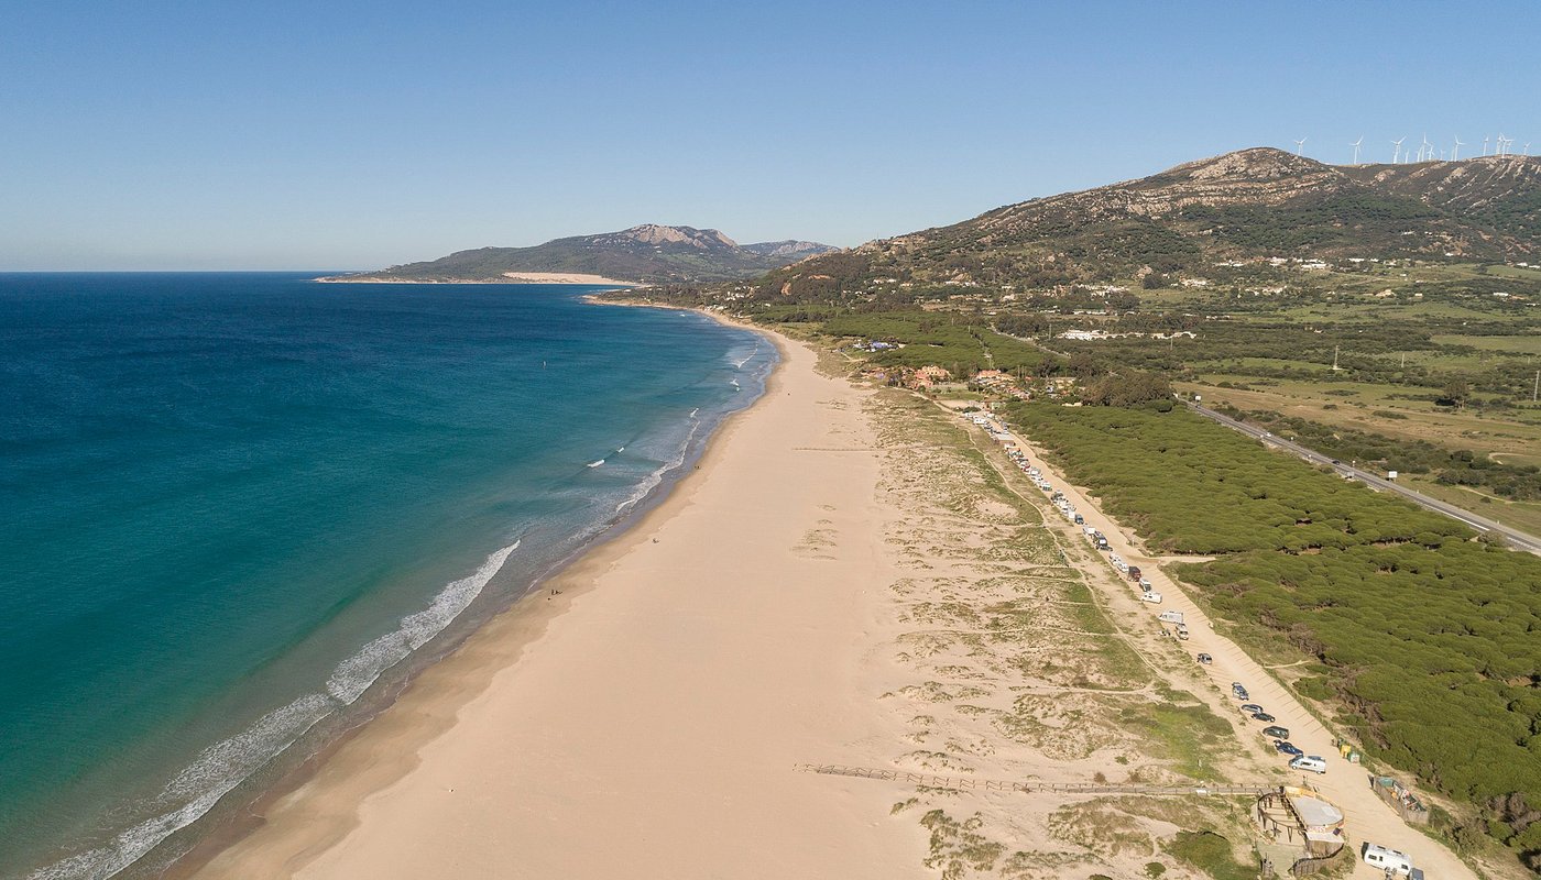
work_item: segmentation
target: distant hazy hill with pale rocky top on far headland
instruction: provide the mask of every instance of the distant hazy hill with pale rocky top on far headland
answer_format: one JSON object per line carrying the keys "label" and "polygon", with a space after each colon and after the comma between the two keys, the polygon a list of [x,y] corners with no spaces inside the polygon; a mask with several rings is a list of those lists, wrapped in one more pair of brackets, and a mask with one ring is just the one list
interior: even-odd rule
{"label": "distant hazy hill with pale rocky top on far headland", "polygon": [[740,245],[717,230],[644,223],[529,248],[476,248],[328,280],[488,282],[527,273],[599,276],[636,284],[706,284],[752,277],[835,248],[815,242]]}

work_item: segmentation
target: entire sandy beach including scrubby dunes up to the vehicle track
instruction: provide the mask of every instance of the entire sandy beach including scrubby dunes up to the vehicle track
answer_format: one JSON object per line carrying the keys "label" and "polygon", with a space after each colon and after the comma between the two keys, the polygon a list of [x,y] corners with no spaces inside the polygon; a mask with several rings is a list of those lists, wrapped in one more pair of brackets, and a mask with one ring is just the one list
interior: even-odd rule
{"label": "entire sandy beach including scrubby dunes up to the vehicle track", "polygon": [[[199,875],[1204,877],[1170,851],[1183,831],[1256,865],[1250,797],[1145,792],[1301,784],[1230,677],[1325,747],[1310,715],[1162,575],[1194,618],[1170,638],[988,435],[780,345],[764,398],[656,510],[428,669]],[[1310,780],[1351,840],[1470,877],[1356,780]]]}

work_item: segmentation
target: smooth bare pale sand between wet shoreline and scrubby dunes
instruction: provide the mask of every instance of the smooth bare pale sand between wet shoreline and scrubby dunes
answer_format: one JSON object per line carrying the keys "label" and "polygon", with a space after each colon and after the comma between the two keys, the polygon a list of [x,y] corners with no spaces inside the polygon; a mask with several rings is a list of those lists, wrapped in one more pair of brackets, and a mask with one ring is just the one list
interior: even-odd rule
{"label": "smooth bare pale sand between wet shoreline and scrubby dunes", "polygon": [[794,772],[898,735],[863,672],[892,512],[871,391],[781,350],[656,510],[428,669],[199,875],[929,875],[889,786]]}

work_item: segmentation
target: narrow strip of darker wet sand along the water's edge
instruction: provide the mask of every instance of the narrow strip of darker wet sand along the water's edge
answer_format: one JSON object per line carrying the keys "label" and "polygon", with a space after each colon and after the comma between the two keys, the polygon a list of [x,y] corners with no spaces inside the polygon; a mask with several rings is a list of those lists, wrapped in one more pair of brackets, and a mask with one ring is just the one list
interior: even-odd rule
{"label": "narrow strip of darker wet sand along the water's edge", "polygon": [[[317,279],[321,280],[321,279]],[[498,282],[493,282],[498,284]],[[510,282],[515,284],[515,282]],[[410,774],[421,760],[418,752],[453,731],[459,709],[492,686],[498,672],[515,667],[527,649],[538,643],[550,624],[567,615],[575,601],[593,590],[593,576],[615,559],[644,544],[646,535],[689,505],[693,485],[704,481],[723,456],[723,447],[741,422],[761,408],[777,391],[787,364],[786,341],[749,324],[726,319],[706,310],[664,304],[613,302],[586,294],[595,305],[653,307],[697,311],[720,324],[750,330],[766,339],[778,361],[764,381],[763,393],[747,407],[730,413],[706,439],[693,467],[666,484],[656,501],[630,522],[619,522],[550,573],[532,583],[529,592],[507,609],[484,621],[456,647],[431,661],[385,695],[382,709],[342,732],[257,794],[239,815],[227,817],[206,837],[193,845],[160,874],[170,878],[210,875],[253,875],[242,869],[222,871],[222,863],[240,858],[247,848],[287,849],[293,855],[273,868],[288,875],[310,858],[325,852],[358,828],[354,811],[328,811],[317,818],[308,801],[334,806],[339,801],[361,806],[370,795]],[[390,755],[378,747],[390,741]],[[384,758],[384,760],[382,760]],[[344,812],[347,815],[344,815]],[[260,835],[260,840],[254,840]],[[276,838],[276,840],[270,840]],[[128,869],[133,874],[133,868]],[[267,874],[262,874],[267,875]]]}

